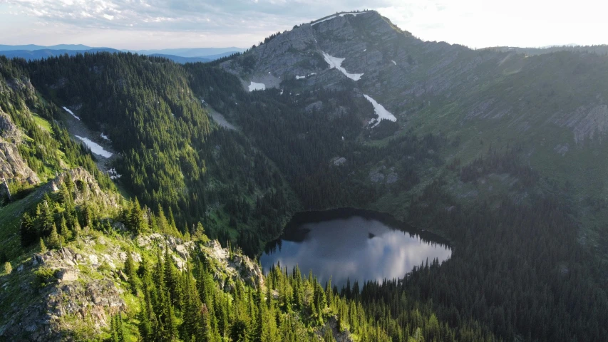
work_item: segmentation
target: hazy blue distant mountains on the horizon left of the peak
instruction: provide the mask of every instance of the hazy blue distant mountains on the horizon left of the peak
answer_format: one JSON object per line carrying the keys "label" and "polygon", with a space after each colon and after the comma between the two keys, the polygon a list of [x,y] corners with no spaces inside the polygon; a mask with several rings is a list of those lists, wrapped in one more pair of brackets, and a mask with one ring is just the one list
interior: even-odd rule
{"label": "hazy blue distant mountains on the horizon left of the peak", "polygon": [[140,55],[159,56],[168,58],[175,63],[210,62],[218,58],[230,56],[244,51],[244,48],[169,48],[162,50],[117,50],[115,48],[94,48],[86,45],[61,44],[54,46],[39,45],[0,45],[0,54],[7,58],[25,58],[36,60],[68,54],[74,56],[78,53],[96,52],[132,52]]}

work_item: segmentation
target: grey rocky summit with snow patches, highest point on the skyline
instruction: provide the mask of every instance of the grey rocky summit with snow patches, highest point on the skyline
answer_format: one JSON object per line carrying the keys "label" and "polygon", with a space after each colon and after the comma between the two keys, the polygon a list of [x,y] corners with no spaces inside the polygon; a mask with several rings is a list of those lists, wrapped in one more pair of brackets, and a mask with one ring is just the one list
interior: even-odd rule
{"label": "grey rocky summit with snow patches, highest point on the skyline", "polygon": [[406,58],[397,56],[398,51],[390,45],[409,38],[411,34],[401,31],[377,11],[345,11],[267,38],[222,66],[243,80],[264,83],[265,88],[279,88],[284,81],[311,75],[316,76],[306,77],[303,82],[324,80],[328,84],[328,77],[329,84],[346,78],[359,81],[366,73],[377,73]]}

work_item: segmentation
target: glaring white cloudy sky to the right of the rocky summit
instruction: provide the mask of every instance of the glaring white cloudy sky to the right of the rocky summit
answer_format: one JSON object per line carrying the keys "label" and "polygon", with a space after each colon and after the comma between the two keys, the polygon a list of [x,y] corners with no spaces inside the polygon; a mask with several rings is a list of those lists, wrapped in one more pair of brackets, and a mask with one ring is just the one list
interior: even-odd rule
{"label": "glaring white cloudy sky to the right of the rocky summit", "polygon": [[481,48],[608,43],[603,16],[608,5],[595,0],[394,1],[378,11],[415,36]]}

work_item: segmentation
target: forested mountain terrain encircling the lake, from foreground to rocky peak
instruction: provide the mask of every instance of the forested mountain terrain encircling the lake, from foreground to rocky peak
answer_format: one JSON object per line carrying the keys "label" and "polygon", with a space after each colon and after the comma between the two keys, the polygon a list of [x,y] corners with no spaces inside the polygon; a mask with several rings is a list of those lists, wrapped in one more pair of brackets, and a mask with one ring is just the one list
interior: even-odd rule
{"label": "forested mountain terrain encircling the lake, from foreground to rocky peak", "polygon": [[[212,63],[0,76],[0,341],[608,338],[601,51],[475,51],[362,11]],[[342,289],[249,259],[336,207],[453,253]]]}

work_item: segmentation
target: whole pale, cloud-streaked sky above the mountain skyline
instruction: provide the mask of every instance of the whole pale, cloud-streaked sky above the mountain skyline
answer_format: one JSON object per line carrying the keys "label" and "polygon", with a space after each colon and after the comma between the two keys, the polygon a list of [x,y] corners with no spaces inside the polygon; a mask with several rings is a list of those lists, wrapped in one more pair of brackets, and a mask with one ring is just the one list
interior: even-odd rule
{"label": "whole pale, cloud-streaked sky above the mountain skyline", "polygon": [[375,9],[424,40],[473,48],[608,43],[608,5],[597,0],[0,0],[0,44],[247,48],[355,9]]}

